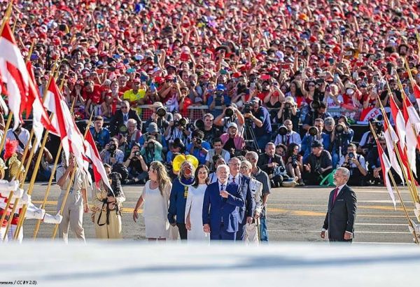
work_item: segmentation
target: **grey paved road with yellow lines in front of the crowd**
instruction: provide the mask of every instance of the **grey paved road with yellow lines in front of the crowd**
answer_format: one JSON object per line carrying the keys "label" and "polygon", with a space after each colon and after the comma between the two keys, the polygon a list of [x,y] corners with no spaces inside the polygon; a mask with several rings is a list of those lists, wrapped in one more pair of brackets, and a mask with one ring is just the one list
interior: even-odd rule
{"label": "grey paved road with yellow lines in front of the crowd", "polygon": [[[41,204],[45,184],[37,184],[32,195],[35,204]],[[125,186],[127,202],[123,210],[123,236],[125,239],[145,237],[144,221],[134,223],[132,211],[143,189],[142,186]],[[414,219],[413,204],[406,188],[400,188],[402,199],[409,207],[409,215]],[[393,242],[411,243],[412,236],[407,230],[407,220],[402,207],[397,203],[393,208],[385,188],[355,188],[358,197],[355,242]],[[319,232],[325,218],[329,188],[276,188],[268,201],[267,225],[270,241],[321,241]],[[47,211],[55,214],[59,190],[51,189]],[[395,195],[396,197],[396,195]],[[31,238],[34,232],[34,220],[25,221],[25,238]],[[94,238],[94,228],[90,216],[85,214],[84,224],[87,239]],[[52,226],[42,224],[39,238],[52,235]],[[73,237],[73,235],[71,235]]]}

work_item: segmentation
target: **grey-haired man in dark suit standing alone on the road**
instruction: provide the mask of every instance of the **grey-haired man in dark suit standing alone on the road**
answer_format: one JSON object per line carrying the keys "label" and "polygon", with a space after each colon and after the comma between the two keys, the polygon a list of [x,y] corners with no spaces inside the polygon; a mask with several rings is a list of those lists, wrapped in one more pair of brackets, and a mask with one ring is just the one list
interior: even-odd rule
{"label": "grey-haired man in dark suit standing alone on the road", "polygon": [[328,211],[321,231],[321,238],[331,241],[351,242],[354,236],[354,221],[356,219],[356,193],[346,185],[350,171],[345,167],[337,168],[334,174],[335,189],[330,193]]}

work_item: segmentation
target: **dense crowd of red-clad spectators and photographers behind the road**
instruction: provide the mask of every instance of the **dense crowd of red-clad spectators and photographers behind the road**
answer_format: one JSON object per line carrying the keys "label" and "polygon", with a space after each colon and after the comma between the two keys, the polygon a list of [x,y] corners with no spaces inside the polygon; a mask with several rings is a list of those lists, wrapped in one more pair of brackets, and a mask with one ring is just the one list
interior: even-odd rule
{"label": "dense crowd of red-clad spectators and photographers behind the road", "polygon": [[[402,106],[400,79],[416,106],[406,68],[420,84],[419,10],[405,0],[20,1],[10,23],[41,95],[55,65],[122,184],[153,181],[155,162],[174,179],[180,154],[216,181],[218,167],[252,153],[249,176],[266,174],[269,190],[328,184],[338,167],[353,186],[383,183],[372,132],[358,139],[351,125],[370,120],[387,153],[387,83]],[[25,126],[4,129],[1,111],[0,137],[17,140],[18,155],[31,145]],[[46,148],[38,180],[53,158]]]}

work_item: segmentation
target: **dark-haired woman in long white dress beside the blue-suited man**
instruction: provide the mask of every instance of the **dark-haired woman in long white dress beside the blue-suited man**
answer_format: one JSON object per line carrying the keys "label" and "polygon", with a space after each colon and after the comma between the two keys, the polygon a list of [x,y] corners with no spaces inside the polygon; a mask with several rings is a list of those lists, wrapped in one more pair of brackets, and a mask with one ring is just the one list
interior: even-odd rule
{"label": "dark-haired woman in long white dress beside the blue-suited man", "polygon": [[186,203],[187,239],[210,240],[203,231],[203,200],[204,192],[209,184],[209,168],[199,165],[195,170],[195,181],[188,187]]}

